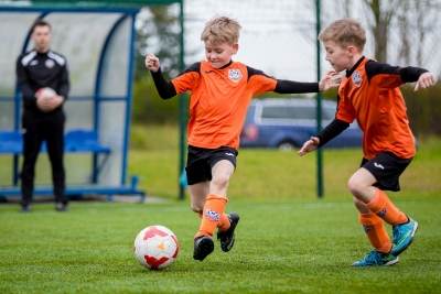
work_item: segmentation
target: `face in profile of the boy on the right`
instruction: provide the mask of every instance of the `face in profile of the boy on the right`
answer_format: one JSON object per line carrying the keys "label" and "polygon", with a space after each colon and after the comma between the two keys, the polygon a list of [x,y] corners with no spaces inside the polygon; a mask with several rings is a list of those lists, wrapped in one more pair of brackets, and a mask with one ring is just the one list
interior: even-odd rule
{"label": "face in profile of the boy on the right", "polygon": [[354,46],[338,45],[334,41],[323,42],[326,51],[326,61],[330,62],[335,72],[351,69],[353,66]]}

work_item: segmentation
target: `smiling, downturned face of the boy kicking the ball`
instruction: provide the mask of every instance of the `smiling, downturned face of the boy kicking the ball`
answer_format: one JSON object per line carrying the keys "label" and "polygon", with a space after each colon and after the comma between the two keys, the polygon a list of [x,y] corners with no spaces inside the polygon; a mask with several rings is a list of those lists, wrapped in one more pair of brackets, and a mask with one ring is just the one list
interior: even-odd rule
{"label": "smiling, downturned face of the boy kicking the ball", "polygon": [[214,68],[220,68],[232,61],[238,44],[205,42],[205,57]]}

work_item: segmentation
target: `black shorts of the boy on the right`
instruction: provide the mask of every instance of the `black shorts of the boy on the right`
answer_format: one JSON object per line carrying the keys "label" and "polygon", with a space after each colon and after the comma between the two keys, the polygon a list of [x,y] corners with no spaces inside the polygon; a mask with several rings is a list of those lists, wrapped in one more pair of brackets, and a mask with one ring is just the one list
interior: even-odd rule
{"label": "black shorts of the boy on the right", "polygon": [[384,190],[400,190],[399,176],[412,159],[400,159],[390,152],[381,152],[372,160],[363,159],[362,167],[369,171],[377,183],[374,186]]}

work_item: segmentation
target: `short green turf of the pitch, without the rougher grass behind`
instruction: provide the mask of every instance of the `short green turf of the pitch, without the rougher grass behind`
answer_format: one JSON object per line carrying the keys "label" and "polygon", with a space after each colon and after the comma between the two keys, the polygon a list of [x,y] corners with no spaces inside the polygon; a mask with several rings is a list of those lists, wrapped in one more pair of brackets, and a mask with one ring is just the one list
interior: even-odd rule
{"label": "short green turf of the pitch, without the rougher grass behind", "polygon": [[[32,214],[0,207],[0,293],[437,293],[439,199],[399,202],[420,221],[415,243],[390,268],[353,269],[368,249],[348,202],[232,202],[241,215],[229,253],[192,260],[197,219],[182,203],[50,204]],[[133,240],[161,224],[180,239],[178,261],[149,271]]]}

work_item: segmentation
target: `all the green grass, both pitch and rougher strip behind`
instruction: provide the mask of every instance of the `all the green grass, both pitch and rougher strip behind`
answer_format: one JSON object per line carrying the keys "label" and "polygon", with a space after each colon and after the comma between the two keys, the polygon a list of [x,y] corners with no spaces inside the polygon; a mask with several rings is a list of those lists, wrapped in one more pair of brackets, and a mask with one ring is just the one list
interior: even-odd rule
{"label": "all the green grass, both pitch and rougher strip behind", "polygon": [[[325,152],[325,192],[315,197],[314,156],[243,150],[228,210],[240,214],[229,253],[216,242],[192,259],[198,219],[175,200],[175,150],[135,151],[130,171],[163,204],[72,203],[66,214],[37,204],[31,214],[0,205],[0,293],[439,293],[441,144],[419,148],[397,205],[420,224],[397,265],[353,269],[369,244],[345,188],[361,151]],[[132,253],[136,235],[164,225],[181,243],[178,261],[149,271]]]}

